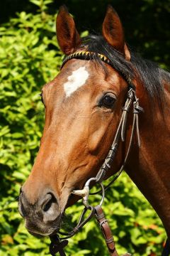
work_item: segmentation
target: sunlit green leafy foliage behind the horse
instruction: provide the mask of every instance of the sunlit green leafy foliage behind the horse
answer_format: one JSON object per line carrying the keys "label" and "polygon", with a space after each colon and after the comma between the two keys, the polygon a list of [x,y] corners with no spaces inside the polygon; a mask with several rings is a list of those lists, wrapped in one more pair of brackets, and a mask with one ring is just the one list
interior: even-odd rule
{"label": "sunlit green leafy foliage behind the horse", "polygon": [[[40,144],[44,121],[40,90],[57,75],[62,57],[55,16],[48,14],[52,0],[31,2],[38,6],[37,14],[21,12],[0,28],[0,256],[49,255],[49,239],[29,235],[17,209],[19,189]],[[164,228],[130,178],[123,174],[106,196],[103,208],[118,252],[159,255]],[[92,203],[99,200],[96,196]],[[72,225],[81,210],[81,203],[67,209]],[[67,255],[108,255],[94,220],[70,239]]]}

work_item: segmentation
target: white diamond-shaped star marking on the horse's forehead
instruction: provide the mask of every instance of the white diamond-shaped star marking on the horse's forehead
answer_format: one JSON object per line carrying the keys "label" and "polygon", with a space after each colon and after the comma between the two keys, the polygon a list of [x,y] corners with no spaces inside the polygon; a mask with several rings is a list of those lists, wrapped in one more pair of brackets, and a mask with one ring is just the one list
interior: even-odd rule
{"label": "white diamond-shaped star marking on the horse's forehead", "polygon": [[75,92],[79,87],[85,84],[89,73],[86,71],[85,67],[78,68],[69,75],[67,82],[64,83],[64,92],[66,96],[69,97],[73,92]]}

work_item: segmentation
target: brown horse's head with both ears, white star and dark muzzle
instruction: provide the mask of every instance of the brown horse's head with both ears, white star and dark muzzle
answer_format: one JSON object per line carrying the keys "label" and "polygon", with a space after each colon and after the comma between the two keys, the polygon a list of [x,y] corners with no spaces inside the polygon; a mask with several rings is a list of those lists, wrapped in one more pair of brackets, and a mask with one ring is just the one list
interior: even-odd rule
{"label": "brown horse's head with both ears, white star and dark muzzle", "polygon": [[[57,15],[57,40],[69,58],[57,77],[42,88],[45,127],[38,156],[19,198],[26,228],[40,235],[60,228],[65,208],[79,199],[72,191],[96,176],[115,137],[128,82],[116,68],[116,61],[115,68],[107,63],[109,50],[122,63],[126,76],[134,75],[123,26],[111,6],[102,36],[83,39],[62,6]],[[88,60],[91,54],[94,58]],[[118,171],[123,161],[121,147],[106,178]]]}

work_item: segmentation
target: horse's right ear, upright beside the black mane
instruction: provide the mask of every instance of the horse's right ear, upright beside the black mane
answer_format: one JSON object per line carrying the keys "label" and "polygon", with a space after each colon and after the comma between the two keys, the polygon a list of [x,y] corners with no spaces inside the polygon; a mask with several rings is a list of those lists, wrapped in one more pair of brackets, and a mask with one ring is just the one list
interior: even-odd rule
{"label": "horse's right ear, upright beside the black mane", "polygon": [[112,6],[108,6],[102,26],[103,37],[116,50],[123,53],[130,60],[130,52],[125,44],[123,26],[120,18]]}

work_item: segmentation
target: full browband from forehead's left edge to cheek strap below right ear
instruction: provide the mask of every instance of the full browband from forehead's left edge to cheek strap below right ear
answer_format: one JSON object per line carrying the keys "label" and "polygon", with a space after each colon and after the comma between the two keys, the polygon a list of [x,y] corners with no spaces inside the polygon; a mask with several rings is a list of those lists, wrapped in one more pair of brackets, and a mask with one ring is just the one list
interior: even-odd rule
{"label": "full browband from forehead's left edge to cheek strap below right ear", "polygon": [[[101,61],[103,61],[104,63],[107,63],[108,65],[111,65],[111,67],[114,68],[113,64],[111,63],[111,60],[109,60],[105,55],[100,53],[81,50],[76,53],[67,55],[62,61],[61,69],[64,66],[64,64],[67,63],[67,61],[71,60],[72,58],[77,58],[79,60],[95,60],[96,58],[99,58]],[[117,71],[121,75],[123,75],[123,78],[125,78],[126,82],[128,82],[129,88],[132,88],[133,90],[135,90],[135,85],[131,82],[130,76],[126,75],[123,71],[121,72],[120,70],[117,70]]]}

